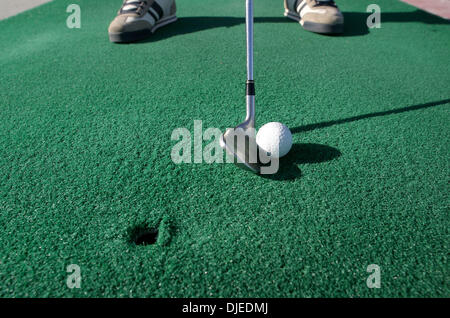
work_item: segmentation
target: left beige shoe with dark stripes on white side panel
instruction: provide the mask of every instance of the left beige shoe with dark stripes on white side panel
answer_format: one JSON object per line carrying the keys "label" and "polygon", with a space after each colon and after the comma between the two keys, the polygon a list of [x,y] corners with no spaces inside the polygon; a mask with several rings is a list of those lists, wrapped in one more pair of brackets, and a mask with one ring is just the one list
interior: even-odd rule
{"label": "left beige shoe with dark stripes on white side panel", "polygon": [[175,0],[124,0],[109,25],[111,42],[134,42],[148,38],[162,26],[175,22]]}

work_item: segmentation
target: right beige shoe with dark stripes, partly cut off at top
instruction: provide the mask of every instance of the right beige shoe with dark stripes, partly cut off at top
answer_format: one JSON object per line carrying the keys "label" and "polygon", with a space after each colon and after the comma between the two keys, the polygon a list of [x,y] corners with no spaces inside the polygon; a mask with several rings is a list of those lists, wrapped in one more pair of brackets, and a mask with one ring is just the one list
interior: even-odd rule
{"label": "right beige shoe with dark stripes, partly cut off at top", "polygon": [[344,16],[333,0],[284,0],[284,15],[300,22],[305,30],[336,34],[344,32]]}

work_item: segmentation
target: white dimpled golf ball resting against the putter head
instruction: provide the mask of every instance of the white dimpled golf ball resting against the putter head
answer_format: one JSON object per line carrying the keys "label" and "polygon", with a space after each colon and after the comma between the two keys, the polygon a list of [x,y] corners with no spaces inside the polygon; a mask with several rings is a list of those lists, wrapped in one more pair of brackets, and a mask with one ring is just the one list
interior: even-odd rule
{"label": "white dimpled golf ball resting against the putter head", "polygon": [[281,158],[292,148],[292,134],[282,123],[271,122],[259,129],[256,143],[269,156]]}

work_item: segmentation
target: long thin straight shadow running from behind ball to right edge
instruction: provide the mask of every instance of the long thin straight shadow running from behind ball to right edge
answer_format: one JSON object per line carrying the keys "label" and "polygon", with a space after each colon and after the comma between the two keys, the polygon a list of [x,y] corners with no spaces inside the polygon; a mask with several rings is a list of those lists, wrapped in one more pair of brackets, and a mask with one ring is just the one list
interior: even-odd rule
{"label": "long thin straight shadow running from behind ball to right edge", "polygon": [[400,113],[409,112],[409,111],[413,111],[413,110],[418,110],[418,109],[423,109],[423,108],[429,108],[429,107],[435,107],[435,106],[439,106],[439,105],[444,105],[444,104],[448,104],[448,103],[450,103],[450,99],[444,99],[444,100],[441,100],[441,101],[436,101],[436,102],[431,102],[431,103],[426,103],[426,104],[413,105],[413,106],[397,108],[397,109],[392,109],[392,110],[386,110],[386,111],[383,111],[383,112],[369,113],[369,114],[353,116],[353,117],[344,118],[344,119],[324,121],[324,122],[317,123],[317,124],[298,126],[298,127],[295,127],[293,129],[291,129],[291,132],[293,134],[296,134],[296,133],[305,132],[305,131],[311,131],[311,130],[315,130],[315,129],[319,129],[319,128],[325,128],[325,127],[330,127],[330,126],[334,126],[334,125],[346,124],[346,123],[350,123],[350,122],[353,122],[353,121],[358,121],[358,120],[361,120],[361,119],[367,119],[367,118],[372,118],[372,117],[380,117],[380,116],[386,116],[386,115],[393,115],[393,114],[400,114]]}

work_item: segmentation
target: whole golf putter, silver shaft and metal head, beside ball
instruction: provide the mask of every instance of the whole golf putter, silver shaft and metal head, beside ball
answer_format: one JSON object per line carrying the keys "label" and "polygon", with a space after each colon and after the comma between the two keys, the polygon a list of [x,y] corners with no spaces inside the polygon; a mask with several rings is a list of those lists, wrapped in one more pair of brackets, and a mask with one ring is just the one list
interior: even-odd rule
{"label": "whole golf putter, silver shaft and metal head, beside ball", "polygon": [[221,147],[234,156],[234,162],[240,168],[254,173],[261,172],[259,149],[256,144],[255,130],[255,83],[253,81],[253,0],[246,0],[247,31],[247,116],[245,121],[235,128],[228,129],[220,138]]}

